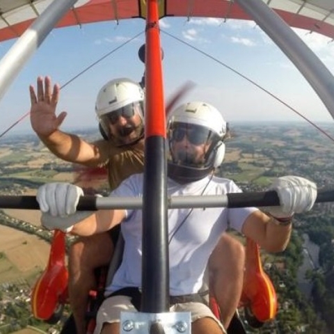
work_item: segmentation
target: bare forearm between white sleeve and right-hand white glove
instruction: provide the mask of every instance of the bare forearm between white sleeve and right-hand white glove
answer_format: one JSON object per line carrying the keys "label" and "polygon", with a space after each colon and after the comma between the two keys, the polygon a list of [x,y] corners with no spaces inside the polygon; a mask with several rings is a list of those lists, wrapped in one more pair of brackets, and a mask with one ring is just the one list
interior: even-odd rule
{"label": "bare forearm between white sleeve and right-hand white glove", "polygon": [[272,253],[281,252],[289,243],[292,224],[282,226],[277,223],[275,218],[259,210],[246,218],[241,232],[256,241],[265,250]]}

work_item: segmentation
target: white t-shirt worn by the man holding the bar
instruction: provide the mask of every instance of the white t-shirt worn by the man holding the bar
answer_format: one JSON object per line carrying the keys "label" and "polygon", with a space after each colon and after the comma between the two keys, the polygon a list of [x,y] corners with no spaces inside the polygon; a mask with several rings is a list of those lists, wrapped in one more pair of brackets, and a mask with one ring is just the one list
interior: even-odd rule
{"label": "white t-shirt worn by the man holding the bar", "polygon": [[[168,196],[205,196],[239,192],[241,189],[233,181],[218,177],[208,176],[189,184],[178,184],[168,179]],[[143,174],[132,175],[110,196],[143,196]],[[244,221],[255,210],[257,209],[254,207],[200,208],[192,211],[168,209],[171,296],[198,292],[202,287],[209,256],[221,234],[227,229],[228,223],[241,232]],[[121,223],[121,229],[125,239],[122,264],[116,271],[111,285],[107,287],[106,293],[122,287],[141,287],[142,211],[127,210],[127,218]]]}

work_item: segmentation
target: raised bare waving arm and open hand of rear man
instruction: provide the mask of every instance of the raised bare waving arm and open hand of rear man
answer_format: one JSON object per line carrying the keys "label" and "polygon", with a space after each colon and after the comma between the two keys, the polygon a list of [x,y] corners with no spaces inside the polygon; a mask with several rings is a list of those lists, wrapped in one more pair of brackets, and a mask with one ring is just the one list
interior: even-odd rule
{"label": "raised bare waving arm and open hand of rear man", "polygon": [[90,144],[74,134],[61,132],[58,128],[65,120],[67,113],[61,112],[56,116],[56,106],[59,100],[60,87],[56,84],[51,89],[51,79],[37,79],[37,95],[33,86],[29,87],[31,97],[31,126],[40,140],[57,157],[86,166],[97,166],[102,157],[102,147]]}

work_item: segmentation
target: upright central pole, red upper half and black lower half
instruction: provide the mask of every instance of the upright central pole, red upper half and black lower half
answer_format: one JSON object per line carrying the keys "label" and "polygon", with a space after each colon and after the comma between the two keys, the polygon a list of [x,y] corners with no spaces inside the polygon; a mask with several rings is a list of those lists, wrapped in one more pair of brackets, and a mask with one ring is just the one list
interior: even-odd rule
{"label": "upright central pole, red upper half and black lower half", "polygon": [[142,312],[169,310],[166,116],[158,0],[147,1]]}

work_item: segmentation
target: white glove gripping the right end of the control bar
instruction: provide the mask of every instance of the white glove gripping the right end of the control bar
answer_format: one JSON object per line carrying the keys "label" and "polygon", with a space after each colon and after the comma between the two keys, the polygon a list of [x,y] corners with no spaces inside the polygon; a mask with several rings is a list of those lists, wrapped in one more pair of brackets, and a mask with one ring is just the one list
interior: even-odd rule
{"label": "white glove gripping the right end of the control bar", "polygon": [[312,209],[317,199],[317,185],[303,177],[283,176],[273,180],[269,190],[275,190],[280,199],[279,207],[267,207],[276,218],[290,217]]}

